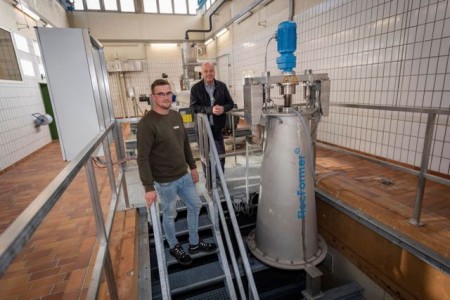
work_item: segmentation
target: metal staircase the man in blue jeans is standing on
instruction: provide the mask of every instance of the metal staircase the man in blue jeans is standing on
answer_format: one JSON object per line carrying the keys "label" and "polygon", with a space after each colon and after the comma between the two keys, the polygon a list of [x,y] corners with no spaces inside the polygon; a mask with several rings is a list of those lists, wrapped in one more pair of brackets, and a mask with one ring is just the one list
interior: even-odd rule
{"label": "metal staircase the man in blue jeans is standing on", "polygon": [[[218,250],[213,253],[191,255],[192,264],[188,267],[178,264],[169,253],[168,244],[163,235],[155,234],[160,228],[161,214],[152,214],[153,238],[150,239],[150,261],[152,262],[152,298],[153,299],[236,299],[229,264],[224,253],[223,243],[216,238],[212,218],[206,199],[202,196],[202,209],[199,216],[199,235],[206,242],[214,242]],[[154,208],[154,207],[152,207]],[[160,211],[160,207],[158,207]],[[177,238],[187,250],[188,229],[186,206],[177,201],[177,220],[175,222]],[[164,251],[157,251],[163,249]],[[158,253],[159,255],[158,256]],[[154,262],[158,262],[157,264]],[[163,291],[163,287],[166,288]]]}

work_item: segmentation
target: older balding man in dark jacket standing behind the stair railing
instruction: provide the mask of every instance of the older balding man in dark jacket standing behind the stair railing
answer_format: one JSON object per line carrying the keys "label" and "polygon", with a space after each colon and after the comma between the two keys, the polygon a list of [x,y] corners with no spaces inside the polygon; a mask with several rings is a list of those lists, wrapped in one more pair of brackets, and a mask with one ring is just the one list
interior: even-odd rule
{"label": "older balding man in dark jacket standing behind the stair railing", "polygon": [[[194,113],[208,115],[214,142],[220,156],[225,154],[222,132],[227,121],[225,113],[233,109],[234,102],[226,84],[214,78],[214,63],[207,61],[202,64],[202,77],[203,80],[191,88],[190,107]],[[225,157],[220,159],[220,164],[224,171]]]}

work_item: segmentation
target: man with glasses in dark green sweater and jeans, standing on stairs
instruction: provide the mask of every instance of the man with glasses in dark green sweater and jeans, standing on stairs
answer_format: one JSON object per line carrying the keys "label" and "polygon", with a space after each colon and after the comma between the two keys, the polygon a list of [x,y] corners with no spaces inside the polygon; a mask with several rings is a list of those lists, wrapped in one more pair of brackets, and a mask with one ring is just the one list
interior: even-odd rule
{"label": "man with glasses in dark green sweater and jeans, standing on stairs", "polygon": [[181,264],[189,265],[191,257],[178,242],[175,232],[177,195],[187,206],[188,252],[214,251],[216,245],[199,240],[201,201],[195,188],[199,177],[181,115],[170,109],[172,95],[166,80],[153,82],[153,107],[138,123],[137,161],[147,205],[151,206],[157,197],[162,203],[162,224],[170,253]]}

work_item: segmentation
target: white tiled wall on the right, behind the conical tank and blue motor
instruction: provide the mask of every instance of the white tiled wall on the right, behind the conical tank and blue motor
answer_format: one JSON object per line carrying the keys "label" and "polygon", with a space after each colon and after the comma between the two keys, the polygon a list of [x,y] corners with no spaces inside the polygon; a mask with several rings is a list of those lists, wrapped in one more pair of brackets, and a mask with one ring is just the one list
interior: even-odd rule
{"label": "white tiled wall on the right, behind the conical tank and blue motor", "polygon": [[[279,74],[276,42],[267,43],[286,20],[287,9],[266,13],[265,20],[261,15],[234,25],[233,47],[221,49],[233,54],[239,107],[243,74],[261,76],[266,47],[267,69]],[[448,1],[328,0],[296,12],[294,21],[296,72],[328,73],[331,102],[450,108]],[[299,95],[293,99],[299,101]],[[332,106],[318,139],[420,166],[426,122],[426,114]],[[431,153],[430,169],[450,174],[448,115],[436,120]]]}

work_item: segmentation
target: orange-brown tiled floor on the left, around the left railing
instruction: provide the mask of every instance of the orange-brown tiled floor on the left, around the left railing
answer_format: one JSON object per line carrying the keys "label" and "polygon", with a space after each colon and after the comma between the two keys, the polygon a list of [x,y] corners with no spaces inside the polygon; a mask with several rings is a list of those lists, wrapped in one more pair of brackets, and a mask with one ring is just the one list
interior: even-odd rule
{"label": "orange-brown tiled floor on the left, around the left railing", "polygon": [[[37,151],[23,162],[0,174],[0,232],[65,167],[58,142]],[[95,168],[102,209],[110,200],[106,168]],[[136,212],[116,213],[110,251],[116,277],[123,283],[122,299],[130,299]],[[68,186],[40,227],[0,279],[0,299],[78,299],[84,298],[95,262],[96,224],[84,170]]]}

